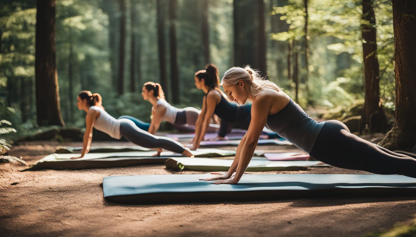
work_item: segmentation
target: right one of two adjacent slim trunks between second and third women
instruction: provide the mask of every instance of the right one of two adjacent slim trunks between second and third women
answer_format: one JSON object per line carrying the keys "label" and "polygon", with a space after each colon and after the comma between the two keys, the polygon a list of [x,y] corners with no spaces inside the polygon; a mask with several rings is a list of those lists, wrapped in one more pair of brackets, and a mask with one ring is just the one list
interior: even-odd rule
{"label": "right one of two adjacent slim trunks between second and third women", "polygon": [[179,103],[178,56],[176,49],[176,0],[169,0],[169,52],[171,58],[172,102]]}

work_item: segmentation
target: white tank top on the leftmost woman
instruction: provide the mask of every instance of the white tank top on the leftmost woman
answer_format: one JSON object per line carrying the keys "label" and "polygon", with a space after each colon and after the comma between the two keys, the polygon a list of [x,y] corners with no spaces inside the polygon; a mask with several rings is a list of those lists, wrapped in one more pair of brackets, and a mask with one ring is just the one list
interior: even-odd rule
{"label": "white tank top on the leftmost woman", "polygon": [[100,116],[95,120],[94,127],[101,132],[109,134],[110,137],[120,139],[120,120],[116,120],[114,117],[109,115],[105,110],[98,106],[91,106],[89,109],[94,108],[100,112]]}

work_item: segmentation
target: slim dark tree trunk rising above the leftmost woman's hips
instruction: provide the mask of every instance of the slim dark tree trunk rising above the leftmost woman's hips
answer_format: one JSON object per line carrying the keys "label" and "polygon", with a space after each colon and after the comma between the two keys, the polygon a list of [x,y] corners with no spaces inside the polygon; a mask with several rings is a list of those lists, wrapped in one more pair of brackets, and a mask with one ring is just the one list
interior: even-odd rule
{"label": "slim dark tree trunk rising above the leftmost woman's hips", "polygon": [[124,93],[124,57],[126,45],[126,1],[119,0],[120,3],[120,44],[119,44],[119,76],[117,83],[117,92],[119,95]]}

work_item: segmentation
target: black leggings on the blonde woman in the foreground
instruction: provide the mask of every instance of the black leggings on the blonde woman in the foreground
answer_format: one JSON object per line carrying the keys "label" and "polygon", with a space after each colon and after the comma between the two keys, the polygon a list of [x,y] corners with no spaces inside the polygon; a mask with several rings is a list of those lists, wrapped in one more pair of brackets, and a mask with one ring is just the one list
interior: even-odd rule
{"label": "black leggings on the blonde woman in the foreground", "polygon": [[416,159],[361,139],[337,120],[325,122],[310,155],[339,168],[416,178]]}

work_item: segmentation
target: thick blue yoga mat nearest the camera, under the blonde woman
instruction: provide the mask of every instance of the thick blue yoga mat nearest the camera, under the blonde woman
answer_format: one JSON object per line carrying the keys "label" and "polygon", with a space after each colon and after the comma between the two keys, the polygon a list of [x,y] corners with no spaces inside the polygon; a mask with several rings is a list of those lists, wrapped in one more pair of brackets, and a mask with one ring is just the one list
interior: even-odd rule
{"label": "thick blue yoga mat nearest the camera, under the blonde woman", "polygon": [[416,196],[416,178],[377,174],[245,174],[213,184],[210,174],[108,176],[104,198],[125,204],[277,200],[310,196]]}

